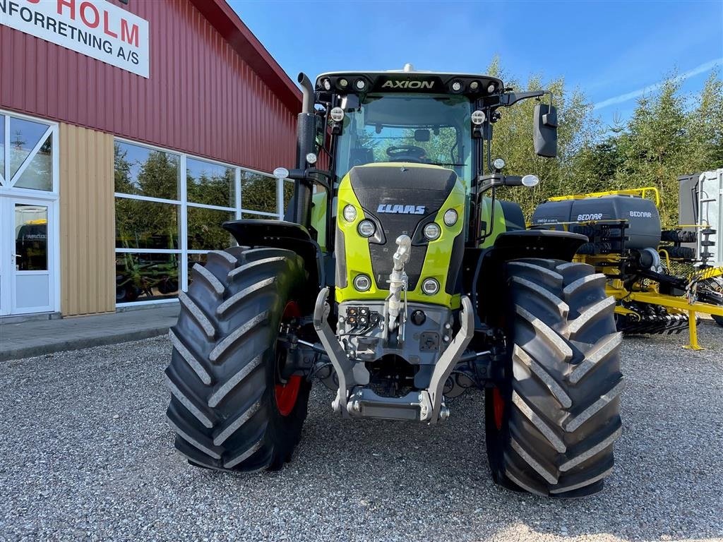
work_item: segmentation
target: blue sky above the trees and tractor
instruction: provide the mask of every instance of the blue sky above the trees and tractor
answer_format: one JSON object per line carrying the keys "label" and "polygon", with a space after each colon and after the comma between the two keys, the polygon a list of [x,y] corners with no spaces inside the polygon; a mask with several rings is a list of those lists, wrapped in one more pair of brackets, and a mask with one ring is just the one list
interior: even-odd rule
{"label": "blue sky above the trees and tractor", "polygon": [[723,0],[228,3],[294,78],[405,62],[484,72],[497,54],[513,77],[565,77],[607,124],[672,72],[695,95],[723,65]]}

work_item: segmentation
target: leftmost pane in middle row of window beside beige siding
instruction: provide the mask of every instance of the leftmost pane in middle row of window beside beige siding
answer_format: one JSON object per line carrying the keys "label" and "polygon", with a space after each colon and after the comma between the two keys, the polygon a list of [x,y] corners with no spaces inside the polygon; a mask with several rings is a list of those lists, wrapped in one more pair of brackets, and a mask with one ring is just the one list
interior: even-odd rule
{"label": "leftmost pane in middle row of window beside beige siding", "polygon": [[116,197],[116,249],[179,248],[179,205]]}

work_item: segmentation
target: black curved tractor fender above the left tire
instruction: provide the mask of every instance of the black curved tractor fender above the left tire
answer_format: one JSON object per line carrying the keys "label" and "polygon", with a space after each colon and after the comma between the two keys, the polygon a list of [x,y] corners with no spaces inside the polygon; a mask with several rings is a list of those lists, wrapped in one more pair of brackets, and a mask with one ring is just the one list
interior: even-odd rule
{"label": "black curved tractor fender above the left tire", "polygon": [[299,254],[309,273],[309,282],[318,285],[317,290],[309,292],[313,298],[326,285],[325,254],[301,224],[285,220],[230,220],[223,223],[223,229],[241,246],[287,249]]}

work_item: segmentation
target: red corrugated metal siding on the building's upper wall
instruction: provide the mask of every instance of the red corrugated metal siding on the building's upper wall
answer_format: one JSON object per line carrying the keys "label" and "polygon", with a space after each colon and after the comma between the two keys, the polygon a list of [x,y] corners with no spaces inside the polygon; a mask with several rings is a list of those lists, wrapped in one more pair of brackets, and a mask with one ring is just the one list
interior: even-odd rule
{"label": "red corrugated metal siding on the building's upper wall", "polygon": [[262,171],[294,165],[298,111],[189,1],[124,9],[149,22],[150,79],[2,26],[0,106]]}

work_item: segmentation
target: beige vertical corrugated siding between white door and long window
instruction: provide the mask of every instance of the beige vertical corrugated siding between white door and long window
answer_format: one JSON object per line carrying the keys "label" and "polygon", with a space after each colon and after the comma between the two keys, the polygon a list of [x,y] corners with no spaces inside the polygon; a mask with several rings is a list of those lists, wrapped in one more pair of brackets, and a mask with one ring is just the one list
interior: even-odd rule
{"label": "beige vertical corrugated siding between white door and long window", "polygon": [[61,124],[59,145],[61,312],[114,311],[113,137]]}

